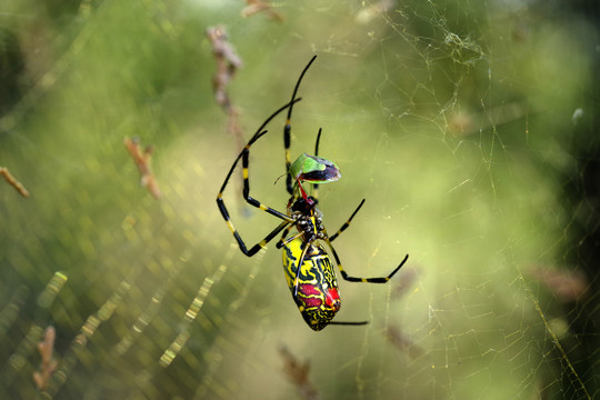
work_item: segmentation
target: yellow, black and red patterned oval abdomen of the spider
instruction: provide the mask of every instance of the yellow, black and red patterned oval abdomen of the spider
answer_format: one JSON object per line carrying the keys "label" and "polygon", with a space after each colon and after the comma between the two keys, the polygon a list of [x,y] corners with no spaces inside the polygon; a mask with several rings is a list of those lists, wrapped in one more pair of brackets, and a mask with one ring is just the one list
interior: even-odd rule
{"label": "yellow, black and red patterned oval abdomen of the spider", "polygon": [[[304,258],[298,272],[304,248]],[[318,242],[307,243],[297,238],[283,246],[282,256],[286,280],[300,313],[311,329],[323,329],[341,307],[338,279],[329,254]]]}

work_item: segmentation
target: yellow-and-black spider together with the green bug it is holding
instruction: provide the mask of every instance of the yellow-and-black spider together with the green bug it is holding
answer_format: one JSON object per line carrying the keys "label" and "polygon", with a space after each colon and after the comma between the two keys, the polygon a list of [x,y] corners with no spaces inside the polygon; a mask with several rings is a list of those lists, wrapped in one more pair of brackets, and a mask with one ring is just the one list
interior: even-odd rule
{"label": "yellow-and-black spider together with the green bug it is holding", "polygon": [[[317,56],[312,57],[300,73],[300,78],[298,78],[292,92],[291,101],[267,118],[267,120],[256,131],[254,136],[252,136],[248,144],[246,144],[243,150],[236,158],[223,181],[223,184],[221,186],[221,190],[217,194],[217,204],[227,226],[233,233],[233,238],[236,238],[240,250],[248,257],[254,256],[260,249],[264,248],[267,243],[282,232],[281,238],[277,242],[276,247],[278,249],[283,249],[283,271],[286,273],[288,287],[307,324],[312,330],[319,331],[328,324],[357,326],[368,323],[367,321],[332,321],[333,317],[340,309],[341,300],[338,290],[336,271],[331,264],[329,254],[321,242],[324,242],[330,252],[333,254],[333,259],[336,260],[342,278],[350,282],[386,283],[407,262],[408,254],[404,257],[402,262],[400,262],[400,264],[396,267],[396,269],[387,277],[358,278],[349,276],[343,269],[340,258],[331,242],[333,242],[333,240],[336,240],[340,233],[342,233],[350,226],[350,222],[357,212],[361,209],[362,204],[364,204],[364,199],[362,199],[341,228],[334,234],[329,236],[323,226],[323,214],[317,207],[318,187],[321,183],[337,181],[341,177],[341,173],[336,163],[318,157],[321,129],[319,129],[319,133],[317,134],[314,156],[302,153],[293,163],[291,162],[291,114],[293,106],[301,100],[300,98],[296,98],[296,94],[304,73],[308,71],[316,58]],[[287,176],[286,189],[290,194],[290,199],[288,201],[286,212],[281,212],[271,207],[264,206],[259,200],[250,196],[249,158],[250,147],[267,133],[267,130],[264,130],[267,124],[284,110],[288,110],[288,118],[283,128]],[[240,159],[242,160],[244,200],[250,206],[256,207],[281,220],[281,223],[279,223],[269,234],[267,234],[264,239],[252,246],[250,249],[247,247],[240,233],[236,230],[233,223],[231,222],[229,212],[223,201],[223,191]],[[312,184],[311,196],[308,196],[307,191],[302,187],[302,182]],[[298,232],[289,236],[292,228],[296,228]]]}

